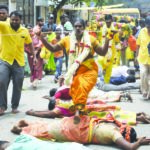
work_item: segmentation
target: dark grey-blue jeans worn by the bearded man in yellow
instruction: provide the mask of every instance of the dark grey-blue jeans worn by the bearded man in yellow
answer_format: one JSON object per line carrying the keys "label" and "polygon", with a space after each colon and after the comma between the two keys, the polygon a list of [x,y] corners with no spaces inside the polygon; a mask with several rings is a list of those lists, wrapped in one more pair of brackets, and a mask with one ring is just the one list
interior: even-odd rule
{"label": "dark grey-blue jeans worn by the bearded man in yellow", "polygon": [[0,60],[0,108],[7,109],[7,89],[12,79],[13,91],[11,99],[12,109],[16,109],[21,98],[21,90],[24,80],[24,67],[19,66],[17,61],[12,65]]}

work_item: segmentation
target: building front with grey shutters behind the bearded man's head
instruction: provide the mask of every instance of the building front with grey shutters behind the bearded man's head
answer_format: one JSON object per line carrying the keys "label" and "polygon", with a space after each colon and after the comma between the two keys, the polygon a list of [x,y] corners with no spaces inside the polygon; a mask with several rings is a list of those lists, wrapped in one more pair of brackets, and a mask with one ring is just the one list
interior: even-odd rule
{"label": "building front with grey shutters behind the bearded man's head", "polygon": [[10,12],[18,10],[23,15],[23,24],[36,24],[37,17],[46,19],[48,0],[0,0],[0,4],[9,4]]}

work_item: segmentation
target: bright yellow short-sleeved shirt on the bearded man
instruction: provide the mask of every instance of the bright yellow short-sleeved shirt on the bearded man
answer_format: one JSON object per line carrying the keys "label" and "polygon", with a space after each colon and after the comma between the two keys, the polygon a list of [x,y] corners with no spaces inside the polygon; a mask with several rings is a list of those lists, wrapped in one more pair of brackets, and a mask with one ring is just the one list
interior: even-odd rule
{"label": "bright yellow short-sleeved shirt on the bearded man", "polygon": [[9,23],[0,21],[0,32],[2,34],[0,59],[8,62],[10,65],[16,60],[20,66],[24,66],[24,44],[32,42],[28,30],[20,26],[15,31]]}

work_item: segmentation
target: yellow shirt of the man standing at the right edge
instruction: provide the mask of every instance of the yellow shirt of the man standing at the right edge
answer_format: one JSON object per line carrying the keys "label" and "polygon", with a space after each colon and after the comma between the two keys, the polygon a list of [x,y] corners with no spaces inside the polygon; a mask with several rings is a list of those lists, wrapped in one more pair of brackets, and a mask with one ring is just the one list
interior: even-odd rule
{"label": "yellow shirt of the man standing at the right edge", "polygon": [[140,46],[138,61],[140,64],[150,64],[150,56],[148,54],[148,44],[150,43],[150,36],[148,35],[147,28],[143,28],[138,36],[137,45]]}

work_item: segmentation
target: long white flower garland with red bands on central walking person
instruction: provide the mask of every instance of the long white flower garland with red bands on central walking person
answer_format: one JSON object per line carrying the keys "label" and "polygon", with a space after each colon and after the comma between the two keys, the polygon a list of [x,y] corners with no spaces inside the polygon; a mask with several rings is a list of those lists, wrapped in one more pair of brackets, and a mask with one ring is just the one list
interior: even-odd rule
{"label": "long white flower garland with red bands on central walking person", "polygon": [[91,41],[89,33],[84,31],[81,42],[78,42],[75,32],[72,32],[70,36],[70,51],[68,62],[69,70],[65,74],[65,85],[70,85],[72,83],[73,75],[90,52]]}

